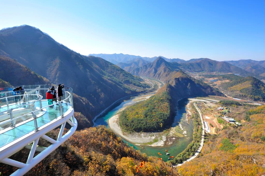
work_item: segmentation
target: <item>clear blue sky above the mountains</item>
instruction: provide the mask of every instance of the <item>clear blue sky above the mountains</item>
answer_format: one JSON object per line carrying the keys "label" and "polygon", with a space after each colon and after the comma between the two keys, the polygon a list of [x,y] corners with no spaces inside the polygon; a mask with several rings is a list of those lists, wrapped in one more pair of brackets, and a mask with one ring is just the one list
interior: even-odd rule
{"label": "clear blue sky above the mountains", "polygon": [[0,28],[39,28],[78,53],[265,60],[265,1],[0,1]]}

